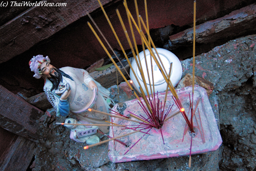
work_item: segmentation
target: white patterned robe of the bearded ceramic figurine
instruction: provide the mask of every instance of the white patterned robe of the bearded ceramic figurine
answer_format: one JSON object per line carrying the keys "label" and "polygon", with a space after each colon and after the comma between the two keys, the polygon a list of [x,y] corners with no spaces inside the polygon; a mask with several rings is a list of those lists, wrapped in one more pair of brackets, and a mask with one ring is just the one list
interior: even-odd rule
{"label": "white patterned robe of the bearded ceramic figurine", "polygon": [[[104,115],[97,112],[90,112],[87,109],[92,108],[98,111],[103,111],[109,113],[109,105],[107,100],[110,101],[109,95],[110,92],[102,87],[98,82],[92,79],[92,77],[88,74],[86,70],[72,68],[72,67],[64,67],[60,68],[65,74],[70,76],[74,81],[62,76],[62,83],[68,83],[71,88],[71,93],[68,96],[68,102],[70,104],[70,112],[76,115],[79,120],[87,121],[89,123],[95,124],[109,124],[106,121],[109,121],[110,118],[108,115]],[[94,81],[98,87],[97,89],[90,89],[88,87],[89,82]],[[52,88],[52,83],[46,79],[46,83],[44,85],[44,91],[46,92],[48,100],[52,103],[54,108],[56,109],[57,115],[59,115],[58,103],[60,101],[60,96],[56,95]],[[108,127],[101,126],[99,127],[100,131],[107,133]]]}

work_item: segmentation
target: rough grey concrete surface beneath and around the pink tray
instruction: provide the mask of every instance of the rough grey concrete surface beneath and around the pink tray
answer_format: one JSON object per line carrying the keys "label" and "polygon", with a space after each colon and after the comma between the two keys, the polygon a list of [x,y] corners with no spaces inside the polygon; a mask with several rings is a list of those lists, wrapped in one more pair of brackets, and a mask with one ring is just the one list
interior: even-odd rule
{"label": "rough grey concrete surface beneath and around the pink tray", "polygon": [[[31,166],[33,171],[255,171],[256,170],[256,35],[232,40],[208,53],[196,56],[195,75],[214,85],[210,103],[223,143],[219,150],[188,156],[129,163],[112,163],[107,157],[108,145],[84,150],[84,144],[69,139],[69,130],[55,122],[53,109],[38,120],[38,131],[44,139]],[[182,61],[183,76],[192,73],[192,59]],[[123,83],[123,85],[125,85]],[[122,86],[121,86],[122,87]],[[116,102],[134,98],[126,86],[116,94]],[[126,99],[127,97],[127,99]],[[105,139],[106,137],[103,137]]]}

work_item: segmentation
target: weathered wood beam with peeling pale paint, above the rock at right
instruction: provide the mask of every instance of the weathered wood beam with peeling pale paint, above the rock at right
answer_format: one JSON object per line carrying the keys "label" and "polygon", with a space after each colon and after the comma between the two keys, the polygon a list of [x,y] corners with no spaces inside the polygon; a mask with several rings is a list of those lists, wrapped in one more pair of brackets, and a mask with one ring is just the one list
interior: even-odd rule
{"label": "weathered wood beam with peeling pale paint, above the rock at right", "polygon": [[[196,43],[207,44],[223,39],[232,39],[234,36],[242,36],[256,31],[256,4],[252,4],[235,10],[230,14],[210,20],[196,26]],[[184,44],[192,44],[193,28],[189,28],[170,36],[170,42],[166,48],[176,49]]]}

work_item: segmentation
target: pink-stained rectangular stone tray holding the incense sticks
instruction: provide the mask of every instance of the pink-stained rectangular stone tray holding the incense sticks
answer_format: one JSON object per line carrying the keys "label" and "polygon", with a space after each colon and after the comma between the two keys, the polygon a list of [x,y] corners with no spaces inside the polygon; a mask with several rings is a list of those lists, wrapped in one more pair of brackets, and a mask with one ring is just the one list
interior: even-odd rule
{"label": "pink-stained rectangular stone tray holding the incense sticks", "polygon": [[[190,100],[189,100],[189,93],[192,95],[192,87],[184,87],[182,89],[176,90],[178,97],[188,115],[189,107],[190,107]],[[162,104],[164,101],[165,93],[158,93],[158,98],[162,100]],[[192,98],[192,97],[191,97]],[[218,126],[214,117],[214,113],[212,111],[212,107],[210,105],[210,101],[206,94],[204,88],[196,86],[194,87],[194,107],[196,105],[197,100],[200,99],[198,109],[200,111],[200,118],[202,122],[202,127],[200,123],[200,118],[198,114],[198,110],[196,111],[196,122],[195,117],[193,117],[193,124],[194,130],[196,131],[196,136],[192,138],[192,154],[198,153],[205,153],[208,151],[215,151],[220,147],[222,143],[222,139],[220,136],[220,132],[218,130]],[[141,99],[144,103],[143,99]],[[125,103],[125,104],[124,104]],[[112,109],[117,111],[118,113],[123,113],[124,115],[128,116],[130,111],[135,115],[143,115],[146,117],[146,114],[138,104],[138,100],[130,100],[122,103],[122,107],[119,104],[116,104]],[[174,104],[172,99],[172,93],[169,92],[166,101],[166,109]],[[126,105],[126,109],[125,109]],[[119,110],[118,110],[119,109]],[[170,111],[169,115],[178,111],[178,107],[176,104],[173,105],[172,110]],[[189,117],[190,118],[190,117]],[[139,123],[127,121],[124,119],[114,118],[112,117],[113,122],[117,124],[124,124],[124,125],[139,125]],[[133,120],[137,120],[135,118],[131,118]],[[138,121],[138,120],[137,120]],[[199,125],[199,126],[198,126]],[[124,145],[110,141],[108,148],[108,157],[113,163],[121,163],[121,162],[128,162],[128,161],[140,161],[140,160],[150,160],[150,159],[160,159],[160,158],[167,158],[167,157],[179,157],[184,155],[190,154],[190,143],[191,143],[191,136],[189,133],[184,135],[184,128],[186,126],[186,121],[181,113],[175,115],[174,117],[168,119],[164,122],[162,126],[162,134],[160,129],[152,128],[148,133],[141,133],[137,132],[134,134],[130,134],[126,137],[119,138],[120,141],[123,141],[129,147],[125,147]],[[117,137],[120,135],[124,135],[126,133],[130,133],[133,130],[131,129],[122,129],[124,127],[110,127],[110,136]],[[202,133],[202,128],[203,132]],[[201,130],[201,133],[199,131]],[[143,130],[147,132],[148,129]],[[113,136],[114,133],[114,136]],[[202,136],[204,135],[205,143],[202,141]],[[140,141],[138,141],[140,139]],[[138,141],[138,143],[136,143]],[[136,145],[134,145],[136,143]],[[132,147],[132,145],[134,145]],[[114,147],[115,146],[115,147]],[[132,147],[130,149],[130,147]],[[130,149],[128,151],[128,149]],[[125,155],[124,153],[128,151]]]}

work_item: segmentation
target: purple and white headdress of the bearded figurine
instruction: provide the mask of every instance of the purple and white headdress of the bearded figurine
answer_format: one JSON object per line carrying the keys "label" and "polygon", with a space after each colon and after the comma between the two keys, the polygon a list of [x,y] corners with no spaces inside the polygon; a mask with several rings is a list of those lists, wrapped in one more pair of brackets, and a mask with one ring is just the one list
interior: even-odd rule
{"label": "purple and white headdress of the bearded figurine", "polygon": [[48,62],[50,64],[51,61],[48,56],[44,58],[44,56],[38,55],[38,56],[33,56],[33,58],[28,63],[31,71],[34,71],[35,73],[34,78],[39,79],[42,77],[42,71],[40,69],[40,66],[44,62]]}

